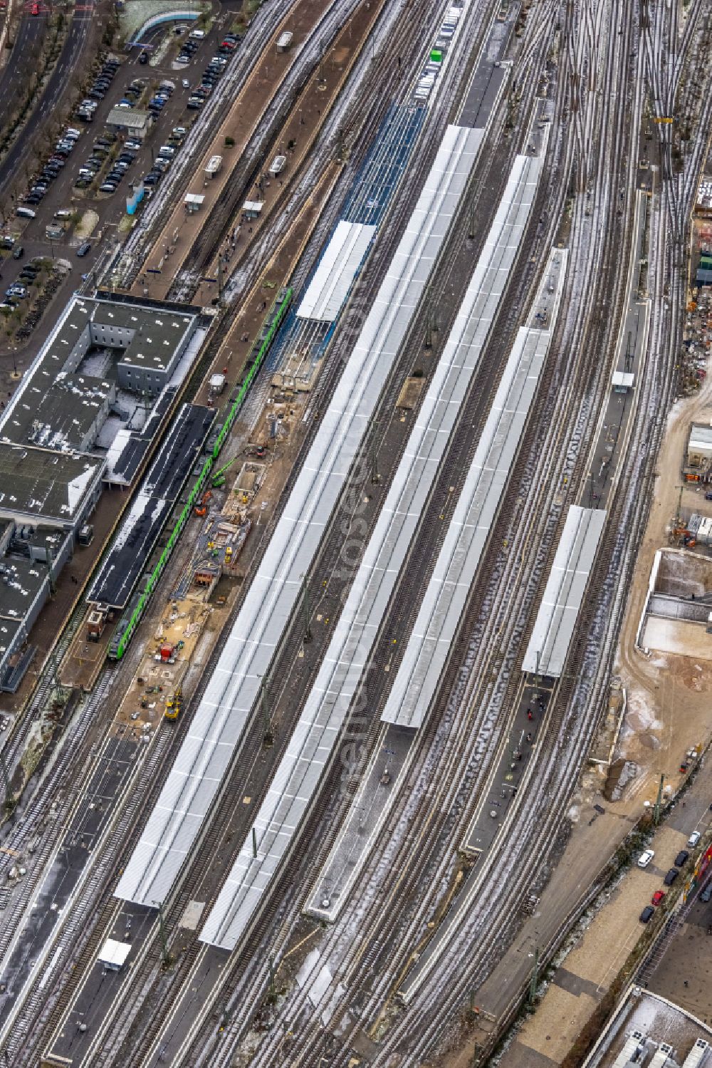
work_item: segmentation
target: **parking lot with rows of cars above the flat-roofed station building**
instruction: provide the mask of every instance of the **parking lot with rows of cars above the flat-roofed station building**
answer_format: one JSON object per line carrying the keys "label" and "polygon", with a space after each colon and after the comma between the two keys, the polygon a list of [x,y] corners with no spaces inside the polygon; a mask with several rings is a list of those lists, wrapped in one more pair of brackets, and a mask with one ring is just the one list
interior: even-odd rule
{"label": "parking lot with rows of cars above the flat-roofed station building", "polygon": [[[92,271],[101,250],[130,225],[127,199],[137,190],[138,198],[151,197],[173,166],[237,51],[231,19],[224,11],[209,32],[193,31],[192,37],[188,26],[180,27],[180,35],[168,27],[170,47],[157,65],[148,62],[147,50],[105,54],[97,62],[70,125],[47,147],[3,224],[0,344],[13,350],[20,371],[31,357],[23,346],[49,299],[61,290],[66,296],[77,287],[78,274]],[[147,120],[137,135],[141,114]],[[61,271],[52,271],[52,261],[61,263]]]}

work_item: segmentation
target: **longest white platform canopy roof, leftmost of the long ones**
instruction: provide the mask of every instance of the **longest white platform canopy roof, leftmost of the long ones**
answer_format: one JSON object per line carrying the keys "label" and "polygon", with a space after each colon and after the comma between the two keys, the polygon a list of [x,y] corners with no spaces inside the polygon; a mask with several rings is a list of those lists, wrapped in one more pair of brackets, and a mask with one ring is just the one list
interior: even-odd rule
{"label": "longest white platform canopy roof, leftmost of the long ones", "polygon": [[[445,132],[190,732],[118,882],[117,897],[148,906],[163,901],[192,848],[257,704],[262,679],[269,674],[274,650],[300,597],[302,576],[311,571],[325,527],[468,183],[481,137],[481,130],[459,127],[448,127]],[[297,744],[292,743],[290,752]],[[222,929],[222,922],[219,926]]]}

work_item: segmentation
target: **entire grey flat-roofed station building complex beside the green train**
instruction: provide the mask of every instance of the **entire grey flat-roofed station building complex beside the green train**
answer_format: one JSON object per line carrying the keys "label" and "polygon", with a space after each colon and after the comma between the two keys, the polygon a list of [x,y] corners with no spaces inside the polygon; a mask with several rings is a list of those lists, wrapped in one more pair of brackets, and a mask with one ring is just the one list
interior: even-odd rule
{"label": "entire grey flat-roofed station building complex beside the green train", "polygon": [[0,689],[102,483],[132,485],[205,330],[201,309],[75,294],[0,415]]}

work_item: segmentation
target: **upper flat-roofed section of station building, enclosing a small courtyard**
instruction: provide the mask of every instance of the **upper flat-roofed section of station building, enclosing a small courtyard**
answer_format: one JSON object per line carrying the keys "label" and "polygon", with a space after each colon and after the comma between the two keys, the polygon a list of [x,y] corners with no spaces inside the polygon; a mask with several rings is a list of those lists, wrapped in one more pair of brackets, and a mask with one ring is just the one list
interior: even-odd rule
{"label": "upper flat-roofed section of station building, enclosing a small courtyard", "polygon": [[200,347],[200,311],[75,294],[0,417],[0,442],[91,452],[107,482],[129,485]]}

